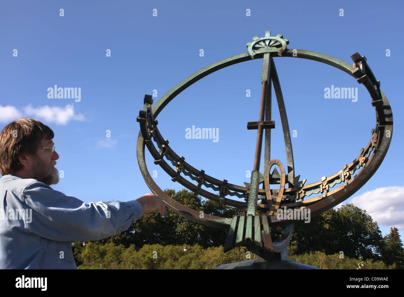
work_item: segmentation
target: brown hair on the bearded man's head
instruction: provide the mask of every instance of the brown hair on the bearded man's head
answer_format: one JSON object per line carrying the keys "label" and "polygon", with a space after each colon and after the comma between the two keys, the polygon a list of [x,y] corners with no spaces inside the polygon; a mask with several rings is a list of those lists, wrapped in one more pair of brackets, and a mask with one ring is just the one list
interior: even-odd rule
{"label": "brown hair on the bearded man's head", "polygon": [[0,173],[14,174],[22,168],[18,157],[36,154],[43,137],[53,139],[52,129],[32,118],[20,118],[8,124],[0,133]]}

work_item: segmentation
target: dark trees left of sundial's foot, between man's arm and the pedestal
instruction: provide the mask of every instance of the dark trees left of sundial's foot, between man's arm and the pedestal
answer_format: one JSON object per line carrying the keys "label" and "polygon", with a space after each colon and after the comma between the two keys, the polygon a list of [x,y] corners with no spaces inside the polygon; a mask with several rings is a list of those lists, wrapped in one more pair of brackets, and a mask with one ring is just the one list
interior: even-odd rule
{"label": "dark trees left of sundial's foot, between man's arm and the pedestal", "polygon": [[[233,217],[234,214],[241,213],[234,207],[203,199],[194,192],[185,189],[178,192],[166,189],[164,192],[179,203],[196,211],[203,211],[204,214]],[[196,223],[167,209],[164,215],[160,215],[158,211],[143,215],[128,230],[109,238],[97,240],[97,242],[99,244],[107,242],[112,242],[115,245],[122,244],[126,248],[134,244],[137,250],[145,244],[199,244],[206,249],[224,245],[226,236],[227,230],[225,229]]]}

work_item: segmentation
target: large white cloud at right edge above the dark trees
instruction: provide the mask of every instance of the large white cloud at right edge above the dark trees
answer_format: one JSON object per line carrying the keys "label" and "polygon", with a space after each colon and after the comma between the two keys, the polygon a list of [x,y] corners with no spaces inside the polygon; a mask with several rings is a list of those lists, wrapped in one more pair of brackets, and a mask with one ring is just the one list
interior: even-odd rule
{"label": "large white cloud at right edge above the dark trees", "polygon": [[[404,231],[404,187],[381,187],[351,199],[350,203],[372,216],[379,226]],[[340,206],[340,204],[338,205]],[[389,211],[390,217],[386,212]]]}

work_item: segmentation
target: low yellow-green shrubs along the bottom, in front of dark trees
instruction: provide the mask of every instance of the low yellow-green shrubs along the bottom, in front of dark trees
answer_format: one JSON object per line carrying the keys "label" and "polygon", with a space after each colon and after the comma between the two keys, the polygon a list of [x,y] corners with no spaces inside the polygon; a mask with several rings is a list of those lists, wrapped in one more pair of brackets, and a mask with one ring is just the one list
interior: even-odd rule
{"label": "low yellow-green shrubs along the bottom, in front of dark trees", "polygon": [[[160,244],[146,244],[139,251],[135,246],[125,249],[112,243],[100,246],[94,243],[86,245],[83,251],[84,265],[79,269],[212,269],[227,263],[234,263],[254,259],[246,258],[245,247],[240,247],[223,253],[223,247],[209,247],[203,249],[195,244],[188,247],[186,255],[183,246],[162,246]],[[363,263],[361,269],[396,269],[397,266],[387,265],[373,259],[358,262],[357,259],[343,257],[337,253],[326,255],[315,251],[303,255],[290,255],[290,261],[316,266],[321,269],[356,269],[358,263]]]}

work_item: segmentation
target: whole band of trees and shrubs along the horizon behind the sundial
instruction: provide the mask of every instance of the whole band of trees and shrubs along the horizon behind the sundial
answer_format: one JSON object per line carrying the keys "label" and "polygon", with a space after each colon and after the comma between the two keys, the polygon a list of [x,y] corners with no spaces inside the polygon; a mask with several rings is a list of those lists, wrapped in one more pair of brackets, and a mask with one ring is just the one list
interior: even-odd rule
{"label": "whole band of trees and shrubs along the horizon behind the sundial", "polygon": [[[202,199],[185,189],[165,192],[204,214],[232,217],[240,213],[233,207]],[[227,230],[200,225],[167,209],[165,215],[158,211],[143,215],[124,232],[86,242],[85,248],[82,242],[74,242],[72,247],[77,265],[84,260],[85,266],[96,268],[210,269],[213,268],[211,265],[248,259],[244,247],[223,253],[219,246],[224,245],[226,235]],[[273,228],[271,235],[273,241],[278,241],[282,228]],[[192,246],[187,255],[182,251],[184,244]],[[404,250],[398,229],[392,227],[383,237],[372,217],[353,204],[311,217],[310,223],[295,224],[288,251],[289,260],[320,268],[404,268]],[[153,258],[153,252],[157,253],[156,258]]]}

